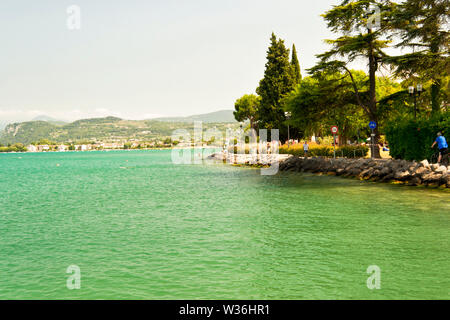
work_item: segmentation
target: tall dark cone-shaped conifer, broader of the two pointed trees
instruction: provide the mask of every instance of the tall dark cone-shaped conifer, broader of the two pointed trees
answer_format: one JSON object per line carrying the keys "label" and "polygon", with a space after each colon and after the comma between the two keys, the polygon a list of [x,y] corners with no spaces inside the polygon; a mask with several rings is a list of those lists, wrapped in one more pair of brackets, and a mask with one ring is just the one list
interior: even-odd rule
{"label": "tall dark cone-shaped conifer, broader of the two pointed trees", "polygon": [[283,97],[295,87],[295,78],[289,61],[289,49],[274,33],[267,51],[266,70],[256,92],[261,96],[258,120],[261,129],[279,129],[280,137],[287,132]]}

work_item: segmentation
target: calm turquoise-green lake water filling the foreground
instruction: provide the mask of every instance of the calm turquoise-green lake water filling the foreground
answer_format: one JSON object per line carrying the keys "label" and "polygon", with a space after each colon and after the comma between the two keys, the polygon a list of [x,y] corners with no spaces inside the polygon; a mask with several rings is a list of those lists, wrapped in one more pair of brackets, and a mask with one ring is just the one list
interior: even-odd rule
{"label": "calm turquoise-green lake water filling the foreground", "polygon": [[444,191],[124,151],[1,154],[0,199],[0,299],[450,298]]}

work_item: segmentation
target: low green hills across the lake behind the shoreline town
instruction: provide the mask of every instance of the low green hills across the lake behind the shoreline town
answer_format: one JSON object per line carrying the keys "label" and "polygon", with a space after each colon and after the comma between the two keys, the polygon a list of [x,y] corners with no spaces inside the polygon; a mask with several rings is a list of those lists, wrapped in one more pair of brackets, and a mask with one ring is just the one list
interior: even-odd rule
{"label": "low green hills across the lake behind the shoreline town", "polygon": [[[204,117],[205,116],[205,117]],[[9,124],[0,132],[0,142],[30,144],[47,139],[55,143],[65,142],[113,142],[113,141],[151,141],[170,137],[177,129],[193,129],[192,119],[208,119],[214,117],[198,116],[195,118],[179,118],[184,122],[156,120],[123,120],[116,117],[83,119],[68,124],[55,124],[49,121],[28,121]],[[191,121],[188,121],[190,119]],[[217,119],[217,118],[215,118]],[[223,119],[223,118],[221,118]],[[211,123],[204,121],[203,129],[216,127],[225,132],[227,127],[238,126],[237,122]]]}

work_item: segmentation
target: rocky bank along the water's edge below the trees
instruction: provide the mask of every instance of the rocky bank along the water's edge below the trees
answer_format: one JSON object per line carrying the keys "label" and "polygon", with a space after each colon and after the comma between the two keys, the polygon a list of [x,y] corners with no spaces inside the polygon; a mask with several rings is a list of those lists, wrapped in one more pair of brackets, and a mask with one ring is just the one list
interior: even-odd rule
{"label": "rocky bank along the water's edge below the trees", "polygon": [[214,154],[211,158],[240,165],[270,165],[280,162],[279,170],[286,172],[311,172],[318,174],[353,177],[410,186],[450,188],[450,166],[393,159],[328,159],[301,158],[289,155],[258,156]]}

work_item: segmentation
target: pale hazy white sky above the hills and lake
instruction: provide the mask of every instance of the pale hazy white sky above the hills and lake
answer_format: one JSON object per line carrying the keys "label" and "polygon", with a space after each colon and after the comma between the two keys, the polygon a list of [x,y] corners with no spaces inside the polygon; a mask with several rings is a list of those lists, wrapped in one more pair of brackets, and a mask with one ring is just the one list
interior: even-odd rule
{"label": "pale hazy white sky above the hills and lake", "polygon": [[[0,122],[232,109],[255,91],[271,32],[302,72],[332,35],[333,0],[2,0]],[[81,9],[69,30],[67,8]]]}

